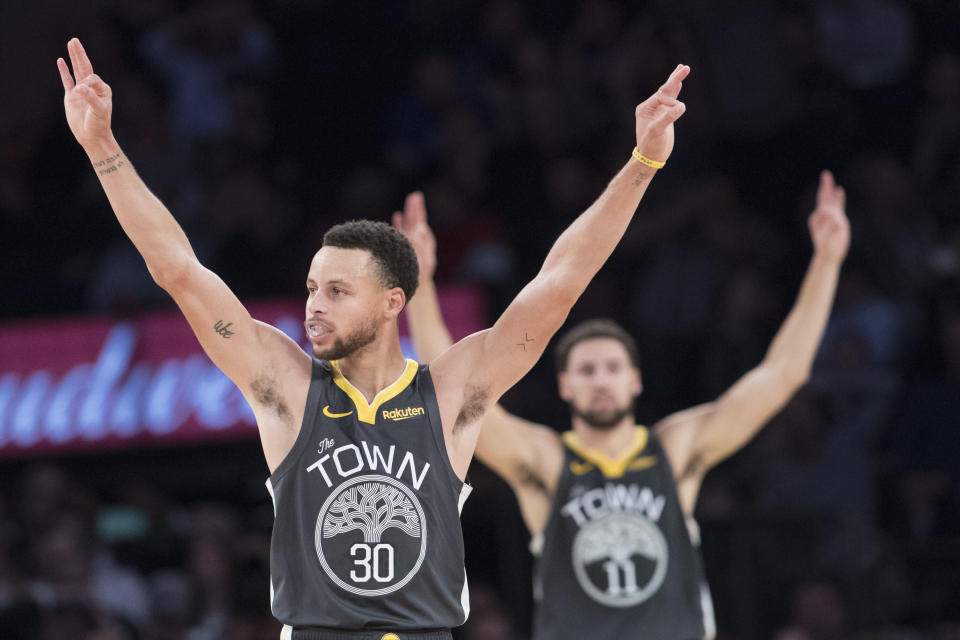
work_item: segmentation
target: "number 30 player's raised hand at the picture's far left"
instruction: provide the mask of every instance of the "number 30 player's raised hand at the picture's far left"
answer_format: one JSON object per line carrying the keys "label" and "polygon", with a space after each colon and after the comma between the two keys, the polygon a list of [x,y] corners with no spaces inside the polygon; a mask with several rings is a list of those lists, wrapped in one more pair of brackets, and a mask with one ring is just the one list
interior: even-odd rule
{"label": "number 30 player's raised hand at the picture's far left", "polygon": [[113,111],[113,93],[100,76],[93,72],[93,65],[83,45],[76,38],[67,43],[73,76],[63,58],[57,59],[60,80],[63,82],[63,107],[67,124],[77,142],[84,148],[97,142],[109,140],[110,114]]}

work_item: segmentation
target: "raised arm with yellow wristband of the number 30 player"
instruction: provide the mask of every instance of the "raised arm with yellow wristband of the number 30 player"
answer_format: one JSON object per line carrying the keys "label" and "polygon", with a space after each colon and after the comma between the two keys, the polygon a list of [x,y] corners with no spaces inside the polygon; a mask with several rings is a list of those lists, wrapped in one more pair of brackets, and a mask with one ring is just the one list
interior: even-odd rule
{"label": "raised arm with yellow wristband of the number 30 player", "polygon": [[637,106],[637,154],[557,239],[540,272],[493,327],[465,338],[434,362],[455,469],[465,471],[473,455],[478,429],[470,427],[539,359],[619,242],[656,168],[673,150],[673,123],[685,110],[677,98],[689,72],[689,67],[677,66],[666,83]]}

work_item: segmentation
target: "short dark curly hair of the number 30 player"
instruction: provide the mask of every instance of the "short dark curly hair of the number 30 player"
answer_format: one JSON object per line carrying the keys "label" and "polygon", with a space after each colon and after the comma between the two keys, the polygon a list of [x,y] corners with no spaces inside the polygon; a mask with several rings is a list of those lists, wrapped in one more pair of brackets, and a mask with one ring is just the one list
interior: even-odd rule
{"label": "short dark curly hair of the number 30 player", "polygon": [[323,246],[369,251],[384,287],[400,287],[407,300],[417,291],[420,281],[417,253],[402,233],[384,222],[350,220],[338,224],[323,234]]}

